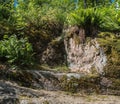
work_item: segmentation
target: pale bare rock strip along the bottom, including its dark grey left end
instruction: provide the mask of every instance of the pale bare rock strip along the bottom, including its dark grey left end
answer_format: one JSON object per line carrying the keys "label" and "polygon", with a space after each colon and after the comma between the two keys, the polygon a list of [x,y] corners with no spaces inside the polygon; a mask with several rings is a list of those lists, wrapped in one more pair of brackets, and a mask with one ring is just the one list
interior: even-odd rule
{"label": "pale bare rock strip along the bottom, including its dark grey left end", "polygon": [[0,104],[119,104],[119,96],[33,90],[0,81]]}

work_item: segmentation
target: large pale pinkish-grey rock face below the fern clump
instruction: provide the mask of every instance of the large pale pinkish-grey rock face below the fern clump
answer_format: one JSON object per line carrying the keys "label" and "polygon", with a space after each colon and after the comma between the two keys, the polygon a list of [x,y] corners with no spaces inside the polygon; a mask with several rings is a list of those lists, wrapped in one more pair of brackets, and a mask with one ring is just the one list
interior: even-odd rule
{"label": "large pale pinkish-grey rock face below the fern clump", "polygon": [[84,40],[85,37],[81,35],[84,34],[83,30],[79,30],[78,33],[77,31],[73,29],[72,33],[69,34],[72,34],[72,36],[67,37],[64,41],[69,68],[74,72],[90,73],[94,70],[102,73],[107,63],[104,50],[100,47],[96,38],[86,37],[86,40]]}

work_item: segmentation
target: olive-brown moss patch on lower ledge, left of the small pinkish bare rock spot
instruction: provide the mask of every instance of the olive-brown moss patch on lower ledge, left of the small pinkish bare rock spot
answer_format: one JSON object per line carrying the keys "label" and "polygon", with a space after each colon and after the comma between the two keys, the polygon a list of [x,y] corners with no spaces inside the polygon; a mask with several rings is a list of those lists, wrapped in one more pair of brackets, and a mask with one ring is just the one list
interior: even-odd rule
{"label": "olive-brown moss patch on lower ledge, left of the small pinkish bare rock spot", "polygon": [[77,78],[70,78],[68,79],[67,76],[64,76],[61,79],[61,87],[63,90],[76,93],[78,91],[85,91],[85,93],[99,93],[99,76],[95,75],[88,75],[81,77],[80,79]]}

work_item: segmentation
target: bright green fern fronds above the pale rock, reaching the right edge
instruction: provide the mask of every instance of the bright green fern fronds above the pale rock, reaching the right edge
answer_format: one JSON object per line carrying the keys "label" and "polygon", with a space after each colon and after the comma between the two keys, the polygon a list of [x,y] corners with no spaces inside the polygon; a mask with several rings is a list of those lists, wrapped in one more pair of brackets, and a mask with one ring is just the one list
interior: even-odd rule
{"label": "bright green fern fronds above the pale rock, reaching the right edge", "polygon": [[67,22],[70,25],[78,25],[86,28],[97,27],[103,31],[119,31],[120,29],[120,12],[115,8],[87,8],[79,9],[70,13]]}

